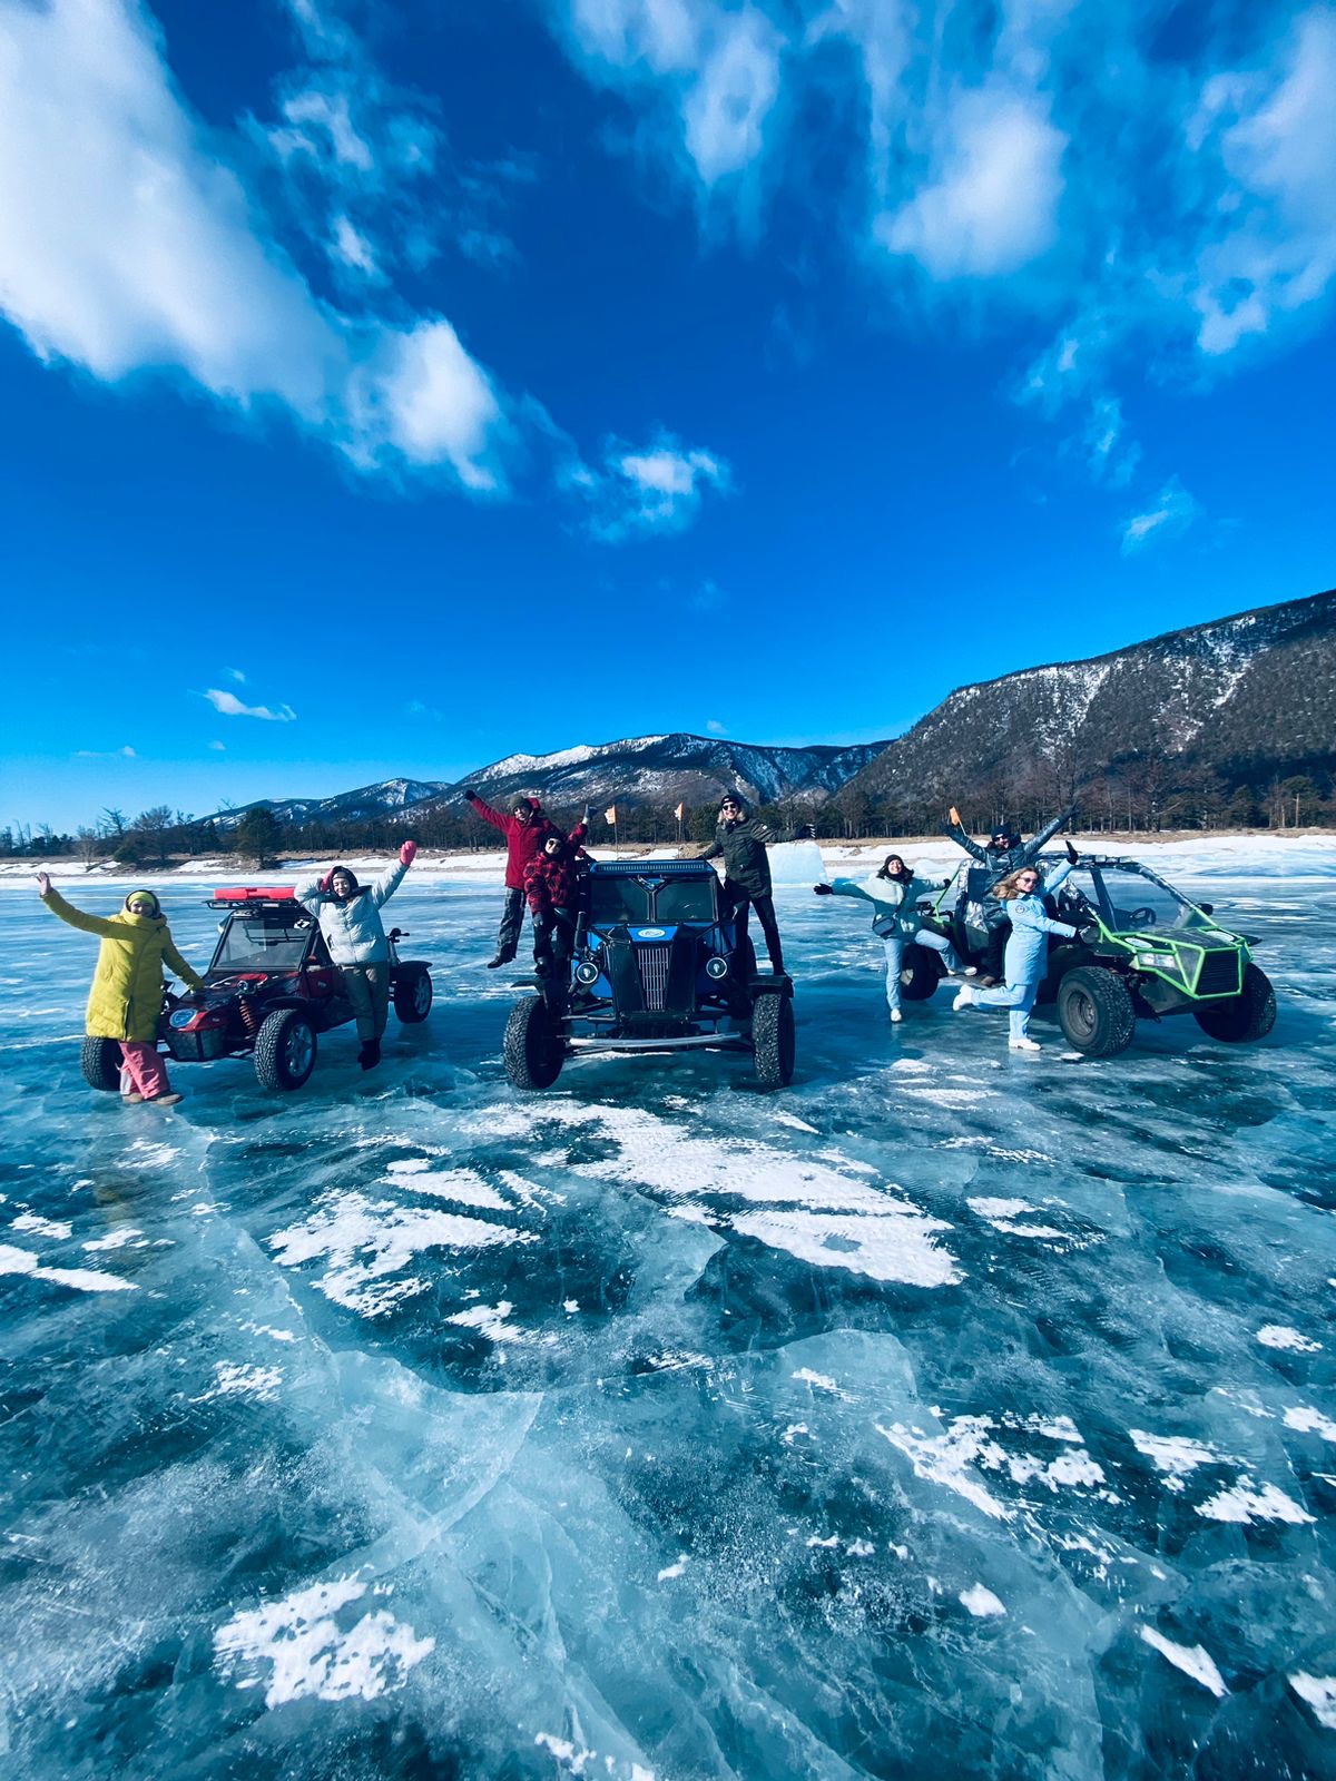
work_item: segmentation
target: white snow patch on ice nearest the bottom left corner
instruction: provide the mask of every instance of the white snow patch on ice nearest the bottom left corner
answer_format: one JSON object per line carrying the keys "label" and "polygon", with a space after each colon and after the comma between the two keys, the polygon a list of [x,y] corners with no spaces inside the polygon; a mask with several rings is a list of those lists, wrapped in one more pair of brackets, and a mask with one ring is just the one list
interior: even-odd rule
{"label": "white snow patch on ice nearest the bottom left corner", "polygon": [[[419,1639],[411,1626],[383,1608],[363,1614],[351,1626],[340,1614],[360,1601],[367,1585],[356,1578],[314,1583],[281,1601],[233,1615],[214,1635],[214,1653],[223,1671],[262,1672],[269,1667],[264,1704],[287,1701],[374,1701],[403,1688],[408,1671],[436,1646]],[[258,1688],[262,1674],[242,1674],[239,1688]]]}

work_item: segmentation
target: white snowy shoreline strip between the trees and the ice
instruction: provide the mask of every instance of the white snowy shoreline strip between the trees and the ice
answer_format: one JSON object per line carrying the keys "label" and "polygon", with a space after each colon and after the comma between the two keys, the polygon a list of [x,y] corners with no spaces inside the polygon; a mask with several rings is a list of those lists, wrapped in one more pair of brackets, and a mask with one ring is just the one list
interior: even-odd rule
{"label": "white snowy shoreline strip between the trees and the ice", "polygon": [[[1329,878],[1336,876],[1336,834],[1204,834],[1204,835],[1079,835],[1081,851],[1142,858],[1158,871],[1229,876],[1236,873],[1261,871],[1265,876],[1284,878]],[[1094,846],[1090,844],[1094,842]],[[691,857],[693,848],[666,846],[647,848],[643,853],[634,848],[613,850],[593,846],[590,853],[599,860],[672,860]],[[777,883],[794,883],[809,876],[814,867],[814,853],[821,864],[835,873],[875,871],[889,851],[901,853],[910,864],[923,867],[941,867],[942,873],[960,864],[960,850],[946,837],[937,841],[859,841],[859,842],[793,842],[771,848],[771,860]],[[351,855],[290,855],[269,871],[257,871],[239,864],[232,855],[214,855],[173,866],[166,871],[153,867],[119,867],[103,862],[86,869],[80,860],[0,860],[0,889],[29,889],[37,871],[46,871],[57,885],[130,885],[130,883],[283,883],[294,876],[306,874],[312,867],[328,866],[331,858],[340,858],[360,876],[383,871],[388,855],[351,853]],[[501,880],[506,867],[504,850],[495,848],[479,853],[419,853],[413,862],[413,880],[417,883],[488,883]],[[789,867],[786,871],[786,867]],[[794,871],[794,867],[802,867]]]}

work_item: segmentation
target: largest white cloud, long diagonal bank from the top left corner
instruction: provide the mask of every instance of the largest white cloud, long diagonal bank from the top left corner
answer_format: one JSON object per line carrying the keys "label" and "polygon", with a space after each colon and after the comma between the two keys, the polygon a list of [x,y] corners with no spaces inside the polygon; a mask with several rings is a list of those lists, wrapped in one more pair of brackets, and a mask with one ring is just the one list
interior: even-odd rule
{"label": "largest white cloud, long diagonal bank from the top left corner", "polygon": [[280,404],[362,468],[506,486],[502,399],[451,324],[354,324],[315,299],[128,0],[0,0],[0,310],[39,358],[102,381],[185,374]]}

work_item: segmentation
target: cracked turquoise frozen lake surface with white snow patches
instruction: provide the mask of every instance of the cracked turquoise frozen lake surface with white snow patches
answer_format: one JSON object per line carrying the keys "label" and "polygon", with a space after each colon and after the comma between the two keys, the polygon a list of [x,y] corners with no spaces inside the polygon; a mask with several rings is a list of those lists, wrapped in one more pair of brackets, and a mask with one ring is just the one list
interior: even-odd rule
{"label": "cracked turquoise frozen lake surface with white snow patches", "polygon": [[522,1097],[497,883],[413,874],[424,1028],[173,1113],[84,1086],[96,946],[0,890],[5,1772],[1336,1774],[1336,871],[1154,862],[1265,1044],[891,1029],[794,883],[791,1090]]}

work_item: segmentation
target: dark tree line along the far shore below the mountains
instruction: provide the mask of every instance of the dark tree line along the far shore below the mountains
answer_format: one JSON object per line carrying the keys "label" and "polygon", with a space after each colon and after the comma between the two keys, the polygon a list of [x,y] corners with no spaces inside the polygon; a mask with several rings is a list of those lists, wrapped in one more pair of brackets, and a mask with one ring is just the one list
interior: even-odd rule
{"label": "dark tree line along the far shore below the mountains", "polygon": [[[1267,784],[1231,784],[1213,768],[1183,766],[1147,755],[1104,773],[1076,775],[1060,760],[1037,762],[1017,777],[998,775],[976,785],[930,787],[916,794],[866,791],[851,782],[830,798],[800,794],[761,805],[757,814],[784,832],[803,823],[821,841],[868,841],[878,835],[935,835],[946,809],[960,809],[965,828],[990,834],[1001,823],[1042,826],[1067,805],[1078,805],[1076,834],[1156,834],[1160,830],[1274,828],[1336,825],[1336,787],[1322,771],[1275,775]],[[582,810],[554,805],[558,826],[574,828]],[[716,803],[691,805],[679,823],[668,805],[618,809],[616,832],[599,809],[591,841],[627,846],[705,842],[714,835]],[[240,862],[269,866],[289,853],[335,857],[390,853],[404,835],[442,851],[485,851],[497,832],[468,805],[426,805],[362,821],[281,823],[273,810],[244,810],[235,823],[198,819],[169,805],[126,817],[105,809],[93,825],[61,834],[50,825],[0,828],[0,857],[77,858],[86,869],[107,860],[123,867],[164,869],[175,860],[233,853]]]}

